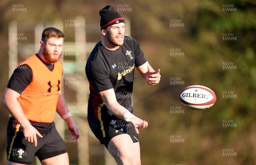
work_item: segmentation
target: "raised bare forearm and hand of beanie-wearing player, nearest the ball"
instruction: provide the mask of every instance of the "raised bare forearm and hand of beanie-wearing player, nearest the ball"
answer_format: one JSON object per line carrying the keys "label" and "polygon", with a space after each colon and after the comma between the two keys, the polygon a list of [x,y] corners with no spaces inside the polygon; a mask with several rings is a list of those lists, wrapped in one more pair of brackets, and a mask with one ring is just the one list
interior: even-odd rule
{"label": "raised bare forearm and hand of beanie-wearing player, nearest the ball", "polygon": [[141,66],[137,67],[137,70],[139,71],[140,75],[144,78],[146,83],[150,85],[156,85],[160,82],[160,69],[157,69],[155,71],[149,65],[148,62],[145,62],[145,64],[142,64]]}

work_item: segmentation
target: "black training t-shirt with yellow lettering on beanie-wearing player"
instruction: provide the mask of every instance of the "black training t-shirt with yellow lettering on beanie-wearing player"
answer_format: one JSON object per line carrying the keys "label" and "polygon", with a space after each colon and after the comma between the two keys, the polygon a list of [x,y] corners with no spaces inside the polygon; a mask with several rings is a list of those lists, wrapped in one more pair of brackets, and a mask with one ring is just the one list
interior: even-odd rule
{"label": "black training t-shirt with yellow lettering on beanie-wearing player", "polygon": [[133,112],[131,95],[134,69],[145,62],[147,60],[140,45],[132,37],[125,36],[124,44],[114,51],[106,49],[101,41],[98,42],[90,53],[85,67],[90,84],[88,119],[98,118],[99,107],[101,111],[105,110],[108,115],[112,115],[98,93],[111,88],[115,91],[118,103]]}

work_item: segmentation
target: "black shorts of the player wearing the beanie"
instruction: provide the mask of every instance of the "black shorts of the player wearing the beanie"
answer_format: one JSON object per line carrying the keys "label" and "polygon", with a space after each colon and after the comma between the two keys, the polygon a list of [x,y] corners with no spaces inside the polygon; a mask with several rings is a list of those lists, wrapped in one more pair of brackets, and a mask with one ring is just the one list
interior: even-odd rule
{"label": "black shorts of the player wearing the beanie", "polygon": [[88,123],[93,134],[107,149],[109,141],[119,134],[129,134],[134,143],[139,142],[134,125],[114,115],[106,118],[88,119]]}

